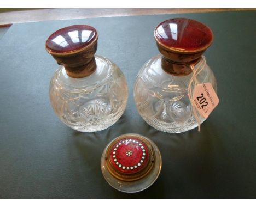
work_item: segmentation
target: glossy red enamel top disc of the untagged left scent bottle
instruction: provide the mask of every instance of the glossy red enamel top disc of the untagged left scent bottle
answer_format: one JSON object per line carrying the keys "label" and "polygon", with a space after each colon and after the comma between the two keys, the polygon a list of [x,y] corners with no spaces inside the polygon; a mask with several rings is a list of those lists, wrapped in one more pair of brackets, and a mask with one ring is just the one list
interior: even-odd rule
{"label": "glossy red enamel top disc of the untagged left scent bottle", "polygon": [[64,27],[49,36],[46,50],[51,54],[71,54],[85,50],[98,39],[97,30],[89,25]]}

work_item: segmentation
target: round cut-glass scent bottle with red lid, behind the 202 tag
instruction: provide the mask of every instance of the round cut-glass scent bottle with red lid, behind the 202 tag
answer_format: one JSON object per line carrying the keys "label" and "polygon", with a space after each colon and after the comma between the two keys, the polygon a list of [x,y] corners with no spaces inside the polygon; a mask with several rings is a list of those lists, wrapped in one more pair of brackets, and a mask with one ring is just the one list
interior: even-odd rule
{"label": "round cut-glass scent bottle with red lid, behind the 202 tag", "polygon": [[[155,129],[180,133],[201,124],[189,98],[197,84],[210,83],[217,92],[216,79],[203,52],[212,44],[210,28],[191,19],[170,19],[154,30],[161,54],[144,64],[134,85],[134,98],[141,117]],[[193,78],[193,70],[199,73]],[[189,88],[190,86],[190,88]]]}

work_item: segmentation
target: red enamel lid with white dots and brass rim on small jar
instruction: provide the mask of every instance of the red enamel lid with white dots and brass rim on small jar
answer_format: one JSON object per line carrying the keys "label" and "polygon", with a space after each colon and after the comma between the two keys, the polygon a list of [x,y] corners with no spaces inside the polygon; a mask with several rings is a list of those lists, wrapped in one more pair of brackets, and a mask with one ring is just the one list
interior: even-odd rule
{"label": "red enamel lid with white dots and brass rim on small jar", "polygon": [[139,180],[154,167],[153,144],[138,134],[124,134],[114,139],[105,152],[108,172],[123,181]]}

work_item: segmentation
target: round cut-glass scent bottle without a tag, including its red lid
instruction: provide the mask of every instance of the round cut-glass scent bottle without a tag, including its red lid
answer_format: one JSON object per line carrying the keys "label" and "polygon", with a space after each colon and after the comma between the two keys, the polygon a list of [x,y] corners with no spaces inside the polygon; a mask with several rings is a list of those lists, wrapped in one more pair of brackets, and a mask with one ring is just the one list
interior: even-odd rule
{"label": "round cut-glass scent bottle without a tag, including its red lid", "polygon": [[46,51],[60,64],[50,82],[50,101],[60,120],[72,129],[107,129],[124,113],[127,83],[109,59],[95,56],[98,33],[88,25],[57,30]]}

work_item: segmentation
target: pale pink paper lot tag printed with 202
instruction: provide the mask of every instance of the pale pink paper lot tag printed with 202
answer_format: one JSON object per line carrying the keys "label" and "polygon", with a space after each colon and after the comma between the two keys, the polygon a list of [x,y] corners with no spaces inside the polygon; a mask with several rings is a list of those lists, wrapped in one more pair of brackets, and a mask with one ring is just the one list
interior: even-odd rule
{"label": "pale pink paper lot tag printed with 202", "polygon": [[219,104],[219,98],[211,83],[202,83],[195,87],[193,102],[197,111],[206,119]]}

